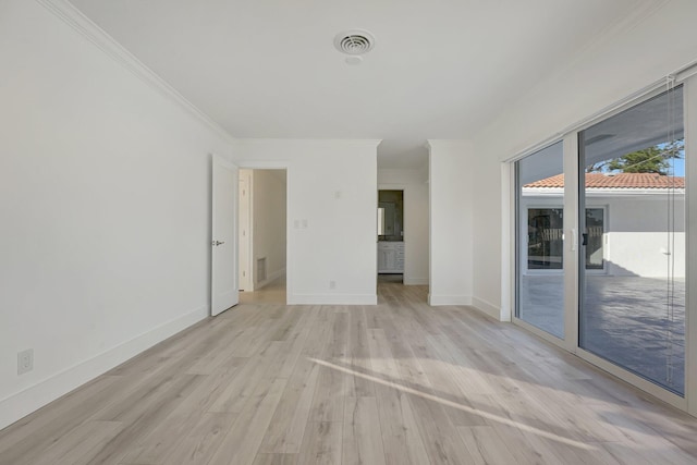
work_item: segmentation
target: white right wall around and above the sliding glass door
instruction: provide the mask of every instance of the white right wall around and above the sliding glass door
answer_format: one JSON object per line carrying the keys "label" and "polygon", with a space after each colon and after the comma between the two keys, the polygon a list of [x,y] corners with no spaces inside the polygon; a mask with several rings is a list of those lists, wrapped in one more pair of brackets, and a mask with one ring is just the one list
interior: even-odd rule
{"label": "white right wall around and above the sliding glass door", "polygon": [[486,225],[473,231],[475,302],[501,308],[501,283],[508,280],[501,266],[501,209],[506,200],[501,193],[502,180],[509,179],[502,175],[501,161],[695,61],[695,17],[697,2],[674,0],[638,24],[617,26],[568,65],[550,69],[548,79],[473,137],[477,175],[472,185],[476,192],[491,193],[473,205],[477,223]]}

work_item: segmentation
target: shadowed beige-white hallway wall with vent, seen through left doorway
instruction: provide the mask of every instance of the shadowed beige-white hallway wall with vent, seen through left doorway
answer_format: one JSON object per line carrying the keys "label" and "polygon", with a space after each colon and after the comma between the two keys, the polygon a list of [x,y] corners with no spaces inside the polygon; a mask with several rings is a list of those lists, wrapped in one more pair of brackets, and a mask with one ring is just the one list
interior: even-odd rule
{"label": "shadowed beige-white hallway wall with vent, seen through left doorway", "polygon": [[256,268],[252,273],[254,289],[258,290],[285,273],[286,182],[284,170],[252,171],[252,218],[254,227],[254,267],[266,257],[266,280],[257,281]]}

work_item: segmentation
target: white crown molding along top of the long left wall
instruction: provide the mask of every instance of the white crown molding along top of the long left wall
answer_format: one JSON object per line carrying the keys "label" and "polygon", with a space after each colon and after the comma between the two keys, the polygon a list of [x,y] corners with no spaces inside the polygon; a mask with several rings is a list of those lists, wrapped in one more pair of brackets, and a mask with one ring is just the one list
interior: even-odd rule
{"label": "white crown molding along top of the long left wall", "polygon": [[170,101],[176,103],[188,114],[204,123],[225,142],[234,144],[235,138],[228,131],[213,121],[209,115],[199,110],[194,103],[184,98],[184,96],[182,96],[174,87],[146,66],[94,21],[85,16],[85,14],[70,1],[36,0],[36,2],[94,44],[101,52],[110,57],[118,64],[129,70],[145,84],[149,85],[162,96],[167,97]]}

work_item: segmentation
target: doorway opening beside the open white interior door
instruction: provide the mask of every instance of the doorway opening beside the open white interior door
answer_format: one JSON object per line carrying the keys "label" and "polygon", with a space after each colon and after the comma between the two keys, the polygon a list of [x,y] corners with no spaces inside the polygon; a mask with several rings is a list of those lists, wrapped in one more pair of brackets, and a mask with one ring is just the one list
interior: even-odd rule
{"label": "doorway opening beside the open white interior door", "polygon": [[240,302],[286,303],[284,169],[240,170]]}

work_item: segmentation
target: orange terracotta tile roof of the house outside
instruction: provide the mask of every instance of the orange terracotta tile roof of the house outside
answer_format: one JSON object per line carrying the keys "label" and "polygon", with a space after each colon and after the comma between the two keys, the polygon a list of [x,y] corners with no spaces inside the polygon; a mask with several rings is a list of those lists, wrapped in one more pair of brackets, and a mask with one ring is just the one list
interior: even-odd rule
{"label": "orange terracotta tile roof of the house outside", "polygon": [[[564,175],[547,178],[523,187],[564,187]],[[685,178],[658,173],[586,173],[586,188],[685,188]]]}

